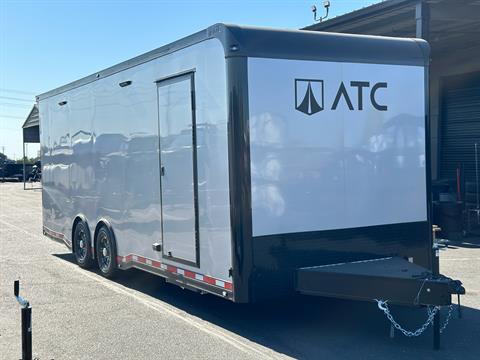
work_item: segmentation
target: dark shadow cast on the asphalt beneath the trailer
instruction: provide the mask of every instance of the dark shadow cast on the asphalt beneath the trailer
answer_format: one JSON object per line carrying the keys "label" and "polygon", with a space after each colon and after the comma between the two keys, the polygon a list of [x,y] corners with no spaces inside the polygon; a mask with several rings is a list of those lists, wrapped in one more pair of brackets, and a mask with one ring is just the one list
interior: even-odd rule
{"label": "dark shadow cast on the asphalt beneath the trailer", "polygon": [[[54,256],[74,263],[72,254]],[[456,307],[442,336],[442,349],[432,350],[432,330],[406,338],[398,331],[391,339],[390,325],[376,304],[338,299],[294,296],[260,304],[234,304],[213,295],[164,284],[157,276],[131,269],[114,282],[140,291],[188,314],[222,327],[278,353],[298,359],[476,359],[480,353],[480,311]],[[408,329],[426,319],[424,309],[391,307]],[[442,311],[443,317],[446,309]]]}

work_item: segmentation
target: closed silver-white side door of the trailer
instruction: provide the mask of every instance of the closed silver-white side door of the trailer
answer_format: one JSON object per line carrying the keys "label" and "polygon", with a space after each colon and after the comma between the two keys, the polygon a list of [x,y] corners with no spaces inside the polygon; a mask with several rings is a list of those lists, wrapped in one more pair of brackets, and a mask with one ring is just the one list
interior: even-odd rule
{"label": "closed silver-white side door of the trailer", "polygon": [[158,83],[163,255],[198,266],[194,73]]}

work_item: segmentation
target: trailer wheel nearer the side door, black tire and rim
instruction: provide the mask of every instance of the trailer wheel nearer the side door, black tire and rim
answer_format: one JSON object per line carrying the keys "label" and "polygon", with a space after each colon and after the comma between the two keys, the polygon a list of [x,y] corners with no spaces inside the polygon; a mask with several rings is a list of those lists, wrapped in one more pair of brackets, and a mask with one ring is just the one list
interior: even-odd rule
{"label": "trailer wheel nearer the side door, black tire and rim", "polygon": [[110,229],[105,225],[102,225],[98,230],[95,245],[100,273],[108,279],[115,277],[117,273],[117,246]]}

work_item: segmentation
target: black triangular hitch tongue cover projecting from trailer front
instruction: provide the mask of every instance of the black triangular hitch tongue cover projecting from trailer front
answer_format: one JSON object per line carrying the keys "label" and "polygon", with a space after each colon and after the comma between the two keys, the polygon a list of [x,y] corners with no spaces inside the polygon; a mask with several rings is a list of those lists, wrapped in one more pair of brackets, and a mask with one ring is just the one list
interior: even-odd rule
{"label": "black triangular hitch tongue cover projecting from trailer front", "polygon": [[434,276],[401,257],[388,257],[300,268],[296,291],[353,300],[388,300],[390,304],[450,305],[452,294],[465,294],[459,280]]}

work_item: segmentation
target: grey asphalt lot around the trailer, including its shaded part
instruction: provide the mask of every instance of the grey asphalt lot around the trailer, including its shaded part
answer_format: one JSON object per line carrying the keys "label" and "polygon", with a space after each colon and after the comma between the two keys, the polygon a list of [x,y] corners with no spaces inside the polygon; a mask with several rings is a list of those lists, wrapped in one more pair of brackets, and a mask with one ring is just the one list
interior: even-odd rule
{"label": "grey asphalt lot around the trailer, including its shaded part", "polygon": [[[295,297],[238,305],[137,270],[106,280],[81,270],[67,248],[42,235],[41,192],[0,183],[0,358],[19,359],[20,310],[13,280],[33,307],[38,359],[478,359],[480,246],[441,252],[442,273],[461,279],[456,312],[433,351],[432,332],[396,333],[373,303]],[[478,244],[478,242],[477,242]],[[416,327],[425,310],[393,307]]]}

